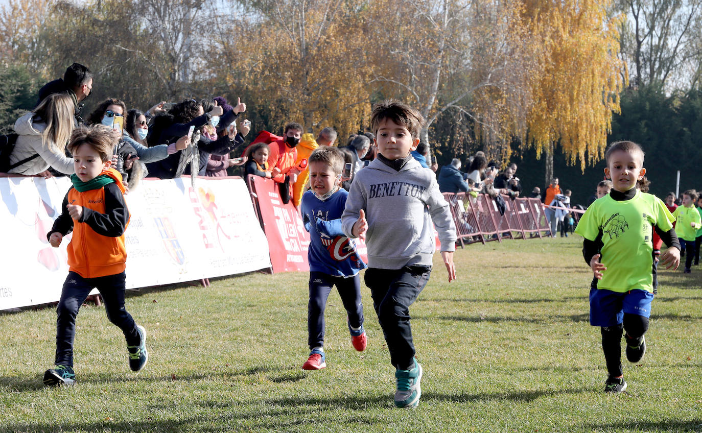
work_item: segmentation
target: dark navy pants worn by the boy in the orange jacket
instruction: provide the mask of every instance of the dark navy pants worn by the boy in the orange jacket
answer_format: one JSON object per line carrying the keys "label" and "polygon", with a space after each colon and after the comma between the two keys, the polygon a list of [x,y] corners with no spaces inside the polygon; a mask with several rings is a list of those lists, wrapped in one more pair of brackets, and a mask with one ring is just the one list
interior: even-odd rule
{"label": "dark navy pants worn by the boy in the orange jacket", "polygon": [[128,346],[141,342],[136,324],[124,308],[124,281],[126,274],[107,275],[98,278],[83,278],[69,272],[61,291],[61,299],[56,307],[56,361],[55,364],[73,366],[73,340],[76,336],[76,317],[88,294],[97,288],[105,303],[107,319],[117,325],[126,338]]}

